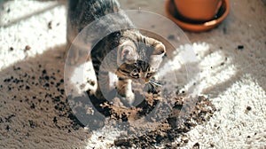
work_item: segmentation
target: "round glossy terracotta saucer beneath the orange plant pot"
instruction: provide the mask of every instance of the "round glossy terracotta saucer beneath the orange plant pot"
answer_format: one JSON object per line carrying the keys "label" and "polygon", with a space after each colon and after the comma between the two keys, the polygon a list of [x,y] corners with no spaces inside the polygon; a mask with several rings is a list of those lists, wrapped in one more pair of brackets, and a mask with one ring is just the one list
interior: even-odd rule
{"label": "round glossy terracotta saucer beneath the orange plant pot", "polygon": [[165,11],[170,20],[173,20],[179,27],[185,30],[201,32],[207,31],[213,27],[219,25],[228,15],[230,11],[229,0],[223,0],[223,4],[220,9],[224,9],[223,14],[220,14],[214,20],[207,20],[205,22],[192,23],[190,21],[183,20],[180,14],[176,11],[176,6],[172,0],[167,0],[165,3]]}

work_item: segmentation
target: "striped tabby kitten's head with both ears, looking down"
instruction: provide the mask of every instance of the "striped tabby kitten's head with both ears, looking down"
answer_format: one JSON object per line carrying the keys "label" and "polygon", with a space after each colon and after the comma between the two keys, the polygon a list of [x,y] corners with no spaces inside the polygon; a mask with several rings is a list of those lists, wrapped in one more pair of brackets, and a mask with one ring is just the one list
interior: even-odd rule
{"label": "striped tabby kitten's head with both ears, looking down", "polygon": [[166,50],[158,40],[136,35],[121,40],[117,52],[116,75],[144,84],[156,74]]}

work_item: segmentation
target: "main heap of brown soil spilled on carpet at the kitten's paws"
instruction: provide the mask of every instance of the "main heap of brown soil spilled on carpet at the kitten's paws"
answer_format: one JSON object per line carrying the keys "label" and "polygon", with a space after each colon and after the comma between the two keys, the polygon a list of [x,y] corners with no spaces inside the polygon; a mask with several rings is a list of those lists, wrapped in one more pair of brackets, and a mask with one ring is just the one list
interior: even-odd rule
{"label": "main heap of brown soil spilled on carpet at the kitten's paws", "polygon": [[[115,126],[120,126],[119,123],[123,122],[122,127],[126,127],[127,131],[121,133],[121,137],[117,137],[114,141],[115,146],[146,148],[160,144],[168,148],[176,148],[185,145],[189,142],[186,132],[207,122],[214,114],[215,106],[203,96],[198,97],[196,104],[193,105],[185,103],[190,102],[184,100],[185,92],[179,92],[176,89],[171,91],[168,96],[162,97],[161,91],[163,90],[156,89],[146,92],[135,90],[137,98],[144,98],[143,101],[135,107],[125,107],[119,97],[114,96],[113,101],[98,99],[90,95],[90,90],[88,90],[87,95],[90,102],[88,97],[79,97],[73,98],[71,105],[74,115],[78,115],[83,126],[86,125],[91,130],[104,127],[110,120],[116,122]],[[91,108],[91,103],[94,108]],[[186,114],[179,115],[182,109]],[[99,112],[98,116],[95,110]],[[143,117],[148,124],[135,122]],[[178,121],[181,119],[182,121]],[[151,131],[138,135],[138,132],[143,132],[146,129],[151,129]],[[135,134],[135,136],[128,137],[129,134]],[[176,143],[173,144],[174,142]],[[193,147],[199,148],[200,144],[196,143]]]}

